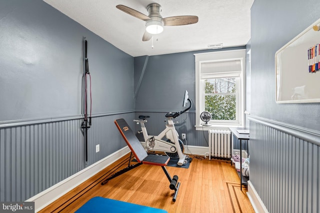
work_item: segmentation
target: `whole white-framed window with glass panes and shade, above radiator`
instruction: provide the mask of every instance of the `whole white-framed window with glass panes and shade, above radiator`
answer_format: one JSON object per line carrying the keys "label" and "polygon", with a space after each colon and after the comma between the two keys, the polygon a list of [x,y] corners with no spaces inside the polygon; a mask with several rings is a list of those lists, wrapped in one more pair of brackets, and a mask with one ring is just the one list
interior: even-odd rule
{"label": "whole white-framed window with glass panes and shade, above radiator", "polygon": [[243,126],[244,67],[245,49],[195,54],[197,130],[203,111],[211,113],[213,127]]}

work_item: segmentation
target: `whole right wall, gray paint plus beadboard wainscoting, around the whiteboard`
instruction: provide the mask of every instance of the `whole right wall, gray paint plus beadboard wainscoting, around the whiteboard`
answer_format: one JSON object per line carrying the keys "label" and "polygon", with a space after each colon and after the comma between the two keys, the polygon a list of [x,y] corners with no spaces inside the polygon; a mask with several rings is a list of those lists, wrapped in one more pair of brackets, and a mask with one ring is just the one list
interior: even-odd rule
{"label": "whole right wall, gray paint plus beadboard wainscoting, around the whiteboard", "polygon": [[270,213],[319,212],[320,104],[276,104],[274,74],[275,52],[320,17],[319,6],[255,0],[251,7],[250,181]]}

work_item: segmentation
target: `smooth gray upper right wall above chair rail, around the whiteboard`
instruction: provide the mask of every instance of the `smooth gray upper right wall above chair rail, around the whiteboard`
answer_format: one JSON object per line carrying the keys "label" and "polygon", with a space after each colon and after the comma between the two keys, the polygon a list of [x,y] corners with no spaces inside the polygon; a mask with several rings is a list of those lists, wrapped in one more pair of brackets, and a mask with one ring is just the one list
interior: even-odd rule
{"label": "smooth gray upper right wall above chair rail, around the whiteboard", "polygon": [[320,104],[276,104],[274,54],[318,18],[318,0],[255,0],[251,8],[251,115],[320,130]]}

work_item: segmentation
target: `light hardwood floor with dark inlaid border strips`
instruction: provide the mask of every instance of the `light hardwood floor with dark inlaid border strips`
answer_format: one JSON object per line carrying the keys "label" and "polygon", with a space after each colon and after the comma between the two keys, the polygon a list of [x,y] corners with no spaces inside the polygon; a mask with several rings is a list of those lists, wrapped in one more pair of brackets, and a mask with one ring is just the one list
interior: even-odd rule
{"label": "light hardwood floor with dark inlaid border strips", "polygon": [[[181,183],[176,202],[161,167],[141,165],[127,173],[101,182],[114,172],[128,166],[128,156],[53,202],[40,213],[74,212],[89,199],[99,196],[128,203],[166,210],[168,213],[253,213],[246,196],[240,191],[234,167],[225,161],[193,158],[188,169],[166,167]],[[117,170],[116,170],[117,169]]]}

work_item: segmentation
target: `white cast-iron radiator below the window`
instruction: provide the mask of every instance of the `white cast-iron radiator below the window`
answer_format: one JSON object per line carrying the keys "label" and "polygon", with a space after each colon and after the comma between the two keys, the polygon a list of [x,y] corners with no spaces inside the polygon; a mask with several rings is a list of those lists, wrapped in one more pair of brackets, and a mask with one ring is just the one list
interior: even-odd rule
{"label": "white cast-iron radiator below the window", "polygon": [[214,158],[231,158],[231,132],[228,130],[209,130],[209,160]]}

